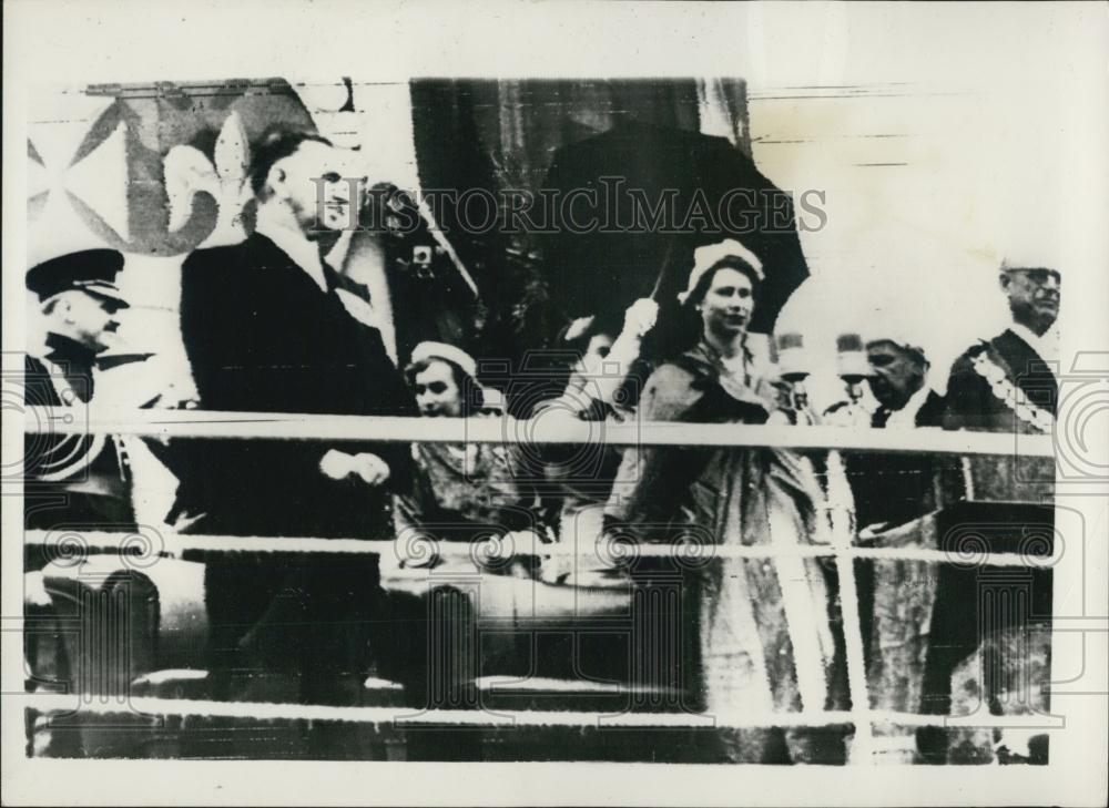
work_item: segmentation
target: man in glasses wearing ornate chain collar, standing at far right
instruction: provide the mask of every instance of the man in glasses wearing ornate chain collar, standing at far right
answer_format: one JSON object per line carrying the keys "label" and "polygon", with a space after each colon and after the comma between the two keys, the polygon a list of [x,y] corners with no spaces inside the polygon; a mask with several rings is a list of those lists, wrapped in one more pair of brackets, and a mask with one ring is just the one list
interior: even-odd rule
{"label": "man in glasses wearing ornate chain collar, standing at far right", "polygon": [[[1007,260],[1001,265],[1000,288],[1008,299],[1011,323],[989,341],[971,346],[952,366],[947,382],[944,426],[1016,434],[1050,434],[1058,400],[1057,361],[1049,335],[1059,316],[1061,275],[1042,259]],[[1020,443],[1015,444],[1018,449]],[[963,483],[967,509],[948,532],[975,526],[990,536],[990,549],[1028,554],[1029,541],[1038,551],[1054,546],[1055,459],[1037,457],[964,458]],[[997,525],[1004,525],[998,530]],[[996,536],[991,533],[996,532]],[[1037,551],[1037,552],[1038,552]],[[978,567],[973,580],[937,592],[933,636],[953,637],[944,664],[950,671],[937,682],[936,712],[968,714],[990,706],[1001,715],[1047,713],[1050,677],[1051,576],[1049,569],[1016,569],[1003,577],[997,567]],[[954,580],[954,576],[952,576]],[[943,586],[940,586],[943,590]],[[985,604],[1006,603],[986,611]],[[981,613],[978,613],[979,605]],[[946,616],[945,616],[946,614]],[[981,622],[987,621],[988,622]],[[968,626],[959,635],[957,626]],[[980,627],[977,627],[979,626]],[[950,667],[968,643],[973,654]],[[949,686],[948,686],[949,685]],[[946,738],[925,733],[922,744],[953,763],[1047,763],[1047,736],[1028,730],[952,730]],[[938,746],[938,748],[937,748]]]}

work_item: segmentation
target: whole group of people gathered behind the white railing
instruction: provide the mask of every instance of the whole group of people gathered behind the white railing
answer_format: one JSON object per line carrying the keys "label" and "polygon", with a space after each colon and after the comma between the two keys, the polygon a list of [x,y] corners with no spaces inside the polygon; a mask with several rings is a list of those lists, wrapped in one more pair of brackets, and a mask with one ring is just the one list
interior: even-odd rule
{"label": "whole group of people gathered behind the white railing", "polygon": [[[427,418],[502,412],[505,395],[481,383],[479,358],[458,346],[423,342],[398,368],[375,327],[365,290],[321,258],[318,187],[312,178],[328,176],[333,152],[316,136],[285,135],[264,144],[252,166],[254,233],[241,244],[186,258],[181,333],[200,406]],[[325,209],[340,227],[350,204],[347,185],[328,183],[326,190]],[[326,217],[323,225],[329,226]],[[103,350],[102,335],[114,327],[113,314],[128,305],[114,284],[122,264],[114,250],[87,250],[28,273],[48,335],[44,350],[28,356],[28,403],[65,407],[92,400],[91,370]],[[577,319],[559,335],[573,360],[548,380],[543,395],[529,393],[533,403],[525,417],[1052,429],[1057,382],[1046,335],[1058,314],[1058,267],[1000,268],[1011,325],[958,358],[945,396],[927,385],[928,357],[912,340],[893,331],[845,335],[840,345],[840,374],[848,382],[844,400],[814,412],[803,375],[791,372],[800,336],[772,335],[765,351],[749,334],[764,280],[762,259],[728,238],[698,247],[686,264],[689,280],[679,300],[700,320],[695,345],[650,365],[640,356],[659,311],[650,298],[628,307],[622,321],[601,315]],[[74,451],[67,439],[29,437],[29,529],[126,525],[133,519],[125,504],[121,442],[111,436],[82,441]],[[474,542],[494,533],[521,549],[516,561],[496,569],[436,552],[417,558],[398,551],[380,562],[373,555],[210,554],[204,599],[212,695],[306,703],[356,703],[367,668],[390,664],[384,657],[393,641],[374,640],[364,630],[383,614],[426,620],[405,593],[414,586],[426,593],[435,576],[478,573],[543,587],[619,587],[627,571],[582,564],[543,548],[593,546],[613,535],[668,542],[683,531],[711,544],[776,548],[882,544],[884,536],[904,544],[906,525],[915,525],[916,538],[908,543],[924,546],[919,520],[928,514],[968,500],[1042,502],[1054,480],[1054,470],[1044,471],[1050,461],[1040,459],[959,461],[920,452],[623,449],[603,441],[405,446],[205,438],[150,446],[179,479],[165,521],[182,534],[396,536],[401,545],[425,538],[440,544]],[[29,561],[29,572],[41,563]],[[918,562],[856,567],[876,705],[925,709],[922,685],[895,697],[894,686],[883,679],[891,665],[909,678],[915,674],[906,671],[920,667],[908,657],[888,656],[895,638],[908,638],[891,628],[883,587],[894,580],[902,585],[919,580],[925,567]],[[721,560],[699,572],[696,614],[689,618],[698,632],[700,707],[724,715],[848,706],[841,585],[834,566],[813,559]],[[920,597],[928,611],[936,594]],[[927,633],[926,627],[917,632]],[[375,643],[370,654],[367,647]],[[948,700],[947,708],[953,704]],[[895,737],[912,732],[894,729]],[[770,759],[770,733],[721,732],[713,757]],[[784,737],[790,759],[812,757],[805,730]],[[1024,747],[1005,754],[1035,757]]]}

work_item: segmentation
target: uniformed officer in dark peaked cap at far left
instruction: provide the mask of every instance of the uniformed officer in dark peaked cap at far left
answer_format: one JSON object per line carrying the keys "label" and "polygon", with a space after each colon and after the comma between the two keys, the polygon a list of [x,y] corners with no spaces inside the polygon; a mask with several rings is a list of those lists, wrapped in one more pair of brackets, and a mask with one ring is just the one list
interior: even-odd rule
{"label": "uniformed officer in dark peaked cap at far left", "polygon": [[[128,307],[115,285],[122,267],[123,255],[114,249],[85,249],[27,273],[44,333],[26,357],[27,406],[72,409],[70,415],[83,417],[80,410],[93,398],[96,357],[119,327],[115,314]],[[113,436],[29,433],[24,458],[28,529],[131,529],[125,456]]]}

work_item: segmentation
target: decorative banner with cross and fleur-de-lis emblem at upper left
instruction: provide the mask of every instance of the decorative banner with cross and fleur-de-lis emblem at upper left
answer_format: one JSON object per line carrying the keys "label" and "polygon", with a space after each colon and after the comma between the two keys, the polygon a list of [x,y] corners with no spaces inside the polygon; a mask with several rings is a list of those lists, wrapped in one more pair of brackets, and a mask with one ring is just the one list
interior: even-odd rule
{"label": "decorative banner with cross and fleur-de-lis emblem at upper left", "polygon": [[[73,114],[82,96],[99,114]],[[39,115],[28,143],[29,215],[40,233],[64,234],[59,252],[80,238],[74,214],[91,241],[131,254],[237,241],[251,144],[277,126],[316,131],[282,79],[99,85],[59,101],[64,117]]]}

